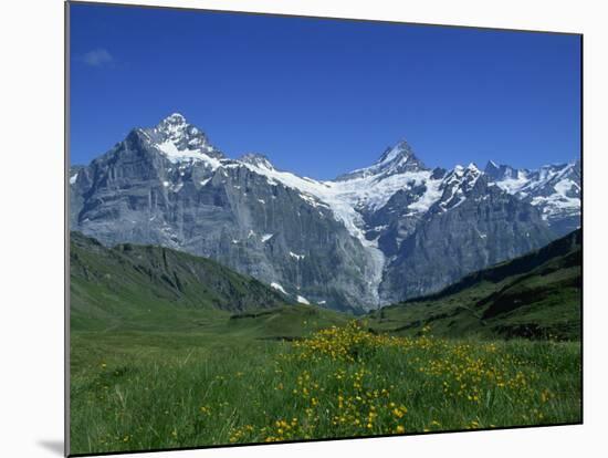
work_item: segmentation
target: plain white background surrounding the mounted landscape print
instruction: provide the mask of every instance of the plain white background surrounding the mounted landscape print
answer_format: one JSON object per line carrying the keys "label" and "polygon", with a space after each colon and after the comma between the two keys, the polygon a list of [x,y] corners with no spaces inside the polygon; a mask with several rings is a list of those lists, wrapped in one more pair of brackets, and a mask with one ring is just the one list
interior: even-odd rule
{"label": "plain white background surrounding the mounted landscape print", "polygon": [[[607,449],[607,15],[600,1],[153,1],[243,11],[585,34],[585,425],[140,456],[599,456]],[[129,2],[125,0],[125,2]],[[63,444],[63,2],[4,1],[0,14],[0,455]],[[601,450],[605,450],[601,452]]]}

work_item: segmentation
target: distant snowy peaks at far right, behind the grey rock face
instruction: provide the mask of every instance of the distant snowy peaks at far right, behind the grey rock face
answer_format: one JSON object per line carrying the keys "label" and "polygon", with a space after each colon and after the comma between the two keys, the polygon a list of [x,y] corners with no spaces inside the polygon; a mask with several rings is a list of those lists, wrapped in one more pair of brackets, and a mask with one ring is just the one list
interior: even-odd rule
{"label": "distant snowy peaks at far right, behind the grey rock face", "polygon": [[489,162],[485,174],[503,190],[537,207],[557,235],[580,227],[580,160],[515,169]]}

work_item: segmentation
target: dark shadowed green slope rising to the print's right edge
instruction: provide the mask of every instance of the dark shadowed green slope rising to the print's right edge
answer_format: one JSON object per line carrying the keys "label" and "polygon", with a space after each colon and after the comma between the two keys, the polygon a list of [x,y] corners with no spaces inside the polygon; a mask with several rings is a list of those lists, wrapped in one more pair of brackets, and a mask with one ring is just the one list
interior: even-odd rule
{"label": "dark shadowed green slope rising to the print's right edge", "polygon": [[442,291],[371,312],[375,332],[580,339],[580,229]]}

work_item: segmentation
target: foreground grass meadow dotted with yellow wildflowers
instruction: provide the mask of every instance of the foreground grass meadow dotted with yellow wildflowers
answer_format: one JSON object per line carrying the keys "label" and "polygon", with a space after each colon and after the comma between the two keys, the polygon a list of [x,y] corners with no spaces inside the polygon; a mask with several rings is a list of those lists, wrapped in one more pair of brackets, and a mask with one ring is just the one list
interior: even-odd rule
{"label": "foreground grass meadow dotted with yellow wildflowers", "polygon": [[179,332],[75,331],[71,452],[581,420],[577,342],[366,329],[302,306]]}

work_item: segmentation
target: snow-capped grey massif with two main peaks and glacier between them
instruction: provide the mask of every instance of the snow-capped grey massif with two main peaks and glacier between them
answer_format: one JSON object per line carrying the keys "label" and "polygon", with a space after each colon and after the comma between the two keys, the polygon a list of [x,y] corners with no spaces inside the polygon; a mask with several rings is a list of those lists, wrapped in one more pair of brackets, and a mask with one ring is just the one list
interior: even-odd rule
{"label": "snow-capped grey massif with two main peaks and glacier between them", "polygon": [[474,165],[430,169],[405,140],[319,181],[259,154],[230,159],[179,114],[133,129],[70,181],[72,229],[105,246],[205,256],[302,303],[354,312],[542,247],[565,215],[546,217]]}

